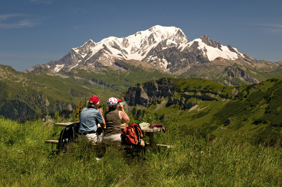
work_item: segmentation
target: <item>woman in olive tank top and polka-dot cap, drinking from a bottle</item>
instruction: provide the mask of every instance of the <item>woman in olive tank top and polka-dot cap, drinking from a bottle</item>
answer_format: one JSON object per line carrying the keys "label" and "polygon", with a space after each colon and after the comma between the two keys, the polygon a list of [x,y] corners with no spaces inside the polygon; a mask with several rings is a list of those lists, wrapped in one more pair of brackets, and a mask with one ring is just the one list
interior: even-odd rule
{"label": "woman in olive tank top and polka-dot cap, drinking from a bottle", "polygon": [[[106,130],[103,138],[105,144],[120,144],[121,143],[121,126],[127,127],[129,117],[123,109],[121,99],[111,97],[107,104],[109,111],[105,113]],[[119,110],[117,110],[119,108]],[[121,120],[125,123],[121,124]]]}

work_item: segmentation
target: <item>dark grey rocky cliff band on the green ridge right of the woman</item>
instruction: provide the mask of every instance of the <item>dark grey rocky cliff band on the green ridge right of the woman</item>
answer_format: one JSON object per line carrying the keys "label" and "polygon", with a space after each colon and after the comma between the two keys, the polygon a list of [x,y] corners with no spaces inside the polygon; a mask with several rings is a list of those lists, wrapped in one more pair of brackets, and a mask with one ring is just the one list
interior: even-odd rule
{"label": "dark grey rocky cliff band on the green ridge right of the woman", "polygon": [[157,102],[158,99],[168,97],[167,105],[179,104],[183,109],[189,109],[197,104],[195,101],[189,99],[195,98],[202,101],[219,101],[222,99],[231,99],[220,92],[211,90],[198,90],[198,89],[180,89],[175,84],[176,79],[162,78],[159,80],[152,80],[143,84],[139,83],[132,86],[128,91],[121,95],[126,101],[127,108],[131,110],[137,106],[138,109],[148,108],[150,105]]}

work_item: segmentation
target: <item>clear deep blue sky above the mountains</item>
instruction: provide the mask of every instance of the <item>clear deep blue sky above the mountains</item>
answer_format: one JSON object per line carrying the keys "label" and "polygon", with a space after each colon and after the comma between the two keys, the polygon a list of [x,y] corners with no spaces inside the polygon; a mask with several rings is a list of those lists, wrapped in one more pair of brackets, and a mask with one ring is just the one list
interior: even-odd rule
{"label": "clear deep blue sky above the mountains", "polygon": [[282,61],[282,1],[2,0],[0,64],[24,71],[59,60],[89,39],[161,26],[193,41],[207,34],[258,60]]}

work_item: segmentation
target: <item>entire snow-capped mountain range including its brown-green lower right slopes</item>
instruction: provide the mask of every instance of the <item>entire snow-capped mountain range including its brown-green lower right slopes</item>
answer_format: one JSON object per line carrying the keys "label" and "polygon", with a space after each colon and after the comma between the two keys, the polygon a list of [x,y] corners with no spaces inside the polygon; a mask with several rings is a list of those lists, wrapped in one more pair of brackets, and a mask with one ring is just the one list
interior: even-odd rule
{"label": "entire snow-capped mountain range including its brown-green lower right slopes", "polygon": [[89,40],[58,61],[24,72],[38,72],[37,68],[56,74],[76,69],[95,72],[104,66],[115,69],[117,61],[128,60],[144,61],[167,76],[205,78],[230,86],[259,83],[282,73],[281,61],[256,60],[207,35],[190,41],[180,28],[159,25],[125,38],[109,37],[98,43]]}

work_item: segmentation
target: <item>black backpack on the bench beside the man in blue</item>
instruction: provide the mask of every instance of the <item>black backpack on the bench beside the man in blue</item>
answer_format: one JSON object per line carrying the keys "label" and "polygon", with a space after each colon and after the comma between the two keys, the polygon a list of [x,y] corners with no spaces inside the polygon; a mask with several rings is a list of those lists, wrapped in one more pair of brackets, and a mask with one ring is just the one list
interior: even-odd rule
{"label": "black backpack on the bench beside the man in blue", "polygon": [[79,122],[72,123],[64,128],[60,133],[59,149],[62,150],[65,146],[76,140],[78,135]]}

